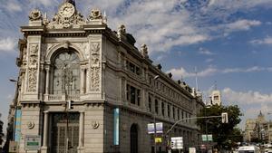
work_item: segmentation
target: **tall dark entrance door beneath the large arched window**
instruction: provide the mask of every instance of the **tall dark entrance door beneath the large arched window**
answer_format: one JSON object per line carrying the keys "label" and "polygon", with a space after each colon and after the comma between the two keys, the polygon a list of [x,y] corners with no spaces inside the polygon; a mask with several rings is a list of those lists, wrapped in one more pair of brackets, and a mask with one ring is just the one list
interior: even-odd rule
{"label": "tall dark entrance door beneath the large arched window", "polygon": [[[79,113],[69,113],[68,117],[67,124],[66,113],[53,114],[53,125],[51,132],[53,153],[67,153],[67,148],[68,153],[77,152],[79,142]],[[67,135],[68,138],[66,137]]]}

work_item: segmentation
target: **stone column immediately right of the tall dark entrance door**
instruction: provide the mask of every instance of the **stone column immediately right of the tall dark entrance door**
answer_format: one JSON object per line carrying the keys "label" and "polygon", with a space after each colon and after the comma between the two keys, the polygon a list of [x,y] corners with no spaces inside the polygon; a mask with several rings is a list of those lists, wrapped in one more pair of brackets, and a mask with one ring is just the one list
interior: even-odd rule
{"label": "stone column immediately right of the tall dark entrance door", "polygon": [[79,127],[79,145],[78,152],[82,153],[84,148],[84,112],[80,111],[80,127]]}

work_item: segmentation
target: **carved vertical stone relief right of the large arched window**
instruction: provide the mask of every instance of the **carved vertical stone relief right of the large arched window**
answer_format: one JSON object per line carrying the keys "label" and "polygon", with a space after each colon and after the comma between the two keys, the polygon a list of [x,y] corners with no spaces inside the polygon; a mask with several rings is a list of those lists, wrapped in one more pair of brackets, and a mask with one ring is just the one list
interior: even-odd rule
{"label": "carved vertical stone relief right of the large arched window", "polygon": [[100,89],[100,43],[91,43],[91,91]]}

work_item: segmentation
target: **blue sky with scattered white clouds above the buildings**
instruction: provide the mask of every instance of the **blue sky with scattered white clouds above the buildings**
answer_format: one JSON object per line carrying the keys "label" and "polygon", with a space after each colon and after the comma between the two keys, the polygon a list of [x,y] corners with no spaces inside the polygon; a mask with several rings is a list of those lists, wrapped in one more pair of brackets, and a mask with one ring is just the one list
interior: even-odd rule
{"label": "blue sky with scattered white clouds above the buildings", "polygon": [[[20,26],[34,8],[49,19],[63,0],[0,0],[0,113],[7,120],[14,98]],[[116,31],[126,26],[140,48],[149,47],[154,64],[174,80],[197,87],[203,98],[217,88],[223,105],[238,105],[245,120],[261,110],[272,120],[271,0],[75,0],[86,18],[93,8],[107,15]],[[197,73],[197,75],[196,75]],[[196,76],[198,85],[196,84]],[[6,125],[6,124],[5,124]]]}

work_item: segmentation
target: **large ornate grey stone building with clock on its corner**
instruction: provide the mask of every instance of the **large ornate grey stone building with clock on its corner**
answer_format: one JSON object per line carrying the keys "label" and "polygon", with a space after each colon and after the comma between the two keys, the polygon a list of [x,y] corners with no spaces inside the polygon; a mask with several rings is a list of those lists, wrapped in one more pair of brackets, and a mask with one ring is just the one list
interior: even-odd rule
{"label": "large ornate grey stone building with clock on its corner", "polygon": [[[29,149],[26,136],[40,136],[43,153],[150,153],[147,125],[153,120],[165,133],[184,119],[170,136],[183,137],[185,149],[199,145],[199,128],[189,118],[203,107],[201,97],[153,65],[147,45],[138,50],[124,25],[114,32],[99,10],[83,18],[66,1],[52,20],[33,10],[21,30],[19,152]],[[165,150],[165,137],[158,136],[157,150]]]}

